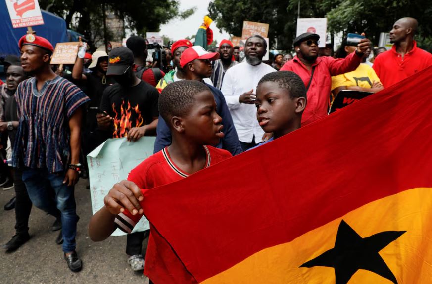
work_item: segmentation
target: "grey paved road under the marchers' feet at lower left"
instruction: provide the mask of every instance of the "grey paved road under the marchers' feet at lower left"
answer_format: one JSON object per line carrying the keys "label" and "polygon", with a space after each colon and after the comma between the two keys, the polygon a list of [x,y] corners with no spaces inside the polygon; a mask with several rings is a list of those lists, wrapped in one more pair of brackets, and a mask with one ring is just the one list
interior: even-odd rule
{"label": "grey paved road under the marchers' feet at lower left", "polygon": [[[51,232],[54,218],[33,207],[30,215],[31,239],[14,253],[0,250],[0,284],[147,284],[148,279],[140,272],[131,270],[127,263],[126,236],[109,237],[93,242],[87,234],[92,215],[87,180],[80,180],[75,188],[78,222],[77,252],[83,260],[83,270],[71,272],[63,259],[61,246],[55,243],[58,232]],[[14,196],[13,189],[0,189],[0,244],[9,241],[15,233],[14,210],[4,211],[4,204]]]}

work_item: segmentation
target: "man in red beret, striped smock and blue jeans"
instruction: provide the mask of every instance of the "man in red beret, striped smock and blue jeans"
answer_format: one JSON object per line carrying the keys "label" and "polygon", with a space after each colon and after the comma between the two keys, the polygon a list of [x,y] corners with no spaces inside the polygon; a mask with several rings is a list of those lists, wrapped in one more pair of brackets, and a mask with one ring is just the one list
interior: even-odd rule
{"label": "man in red beret, striped smock and blue jeans", "polygon": [[23,170],[22,180],[36,207],[54,216],[60,211],[64,258],[69,269],[77,272],[82,262],[75,252],[78,216],[74,186],[82,167],[82,105],[89,98],[52,72],[49,61],[54,48],[47,39],[28,34],[18,45],[21,65],[34,77],[21,82],[15,93],[19,127],[12,166]]}

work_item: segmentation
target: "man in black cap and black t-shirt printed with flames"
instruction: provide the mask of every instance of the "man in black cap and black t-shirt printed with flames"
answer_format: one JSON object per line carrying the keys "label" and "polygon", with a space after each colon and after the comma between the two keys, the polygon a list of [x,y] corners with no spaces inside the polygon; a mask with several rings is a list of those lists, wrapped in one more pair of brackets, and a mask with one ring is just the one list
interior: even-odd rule
{"label": "man in black cap and black t-shirt printed with flames", "polygon": [[109,138],[136,141],[156,133],[159,92],[135,76],[133,65],[134,56],[126,47],[114,48],[109,54],[106,76],[117,83],[103,92],[97,115],[99,127],[109,131]]}

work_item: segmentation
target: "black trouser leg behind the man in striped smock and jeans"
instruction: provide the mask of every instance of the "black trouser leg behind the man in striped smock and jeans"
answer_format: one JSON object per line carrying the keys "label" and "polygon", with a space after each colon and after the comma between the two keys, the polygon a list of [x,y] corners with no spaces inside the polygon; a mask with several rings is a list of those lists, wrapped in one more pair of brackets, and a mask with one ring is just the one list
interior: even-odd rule
{"label": "black trouser leg behind the man in striped smock and jeans", "polygon": [[22,181],[22,171],[13,171],[15,183],[15,231],[16,234],[27,234],[29,232],[29,216],[32,211],[32,201],[30,200],[27,188]]}

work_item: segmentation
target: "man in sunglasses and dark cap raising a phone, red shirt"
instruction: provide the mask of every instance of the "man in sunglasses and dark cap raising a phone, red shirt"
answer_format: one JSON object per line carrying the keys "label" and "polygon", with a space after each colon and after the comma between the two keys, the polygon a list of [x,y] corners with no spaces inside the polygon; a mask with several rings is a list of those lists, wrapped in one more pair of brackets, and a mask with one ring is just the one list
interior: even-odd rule
{"label": "man in sunglasses and dark cap raising a phone, red shirt", "polygon": [[307,106],[301,119],[302,126],[327,116],[332,87],[331,76],[354,71],[366,50],[371,48],[370,41],[362,39],[356,51],[344,59],[318,57],[319,39],[319,35],[312,33],[303,33],[295,38],[294,49],[297,55],[280,69],[293,71],[300,76],[306,86]]}

